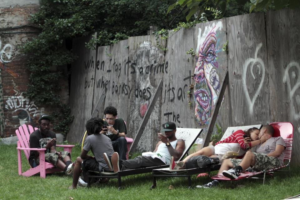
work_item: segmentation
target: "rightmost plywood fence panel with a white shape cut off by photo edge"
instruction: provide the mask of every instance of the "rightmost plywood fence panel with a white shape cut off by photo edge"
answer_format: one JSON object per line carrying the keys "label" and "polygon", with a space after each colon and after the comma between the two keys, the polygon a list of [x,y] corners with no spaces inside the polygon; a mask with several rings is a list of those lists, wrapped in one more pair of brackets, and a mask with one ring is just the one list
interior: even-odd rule
{"label": "rightmost plywood fence panel with a white shape cut off by photo edge", "polygon": [[267,42],[270,66],[271,122],[294,125],[292,163],[299,165],[300,151],[300,10],[268,12]]}

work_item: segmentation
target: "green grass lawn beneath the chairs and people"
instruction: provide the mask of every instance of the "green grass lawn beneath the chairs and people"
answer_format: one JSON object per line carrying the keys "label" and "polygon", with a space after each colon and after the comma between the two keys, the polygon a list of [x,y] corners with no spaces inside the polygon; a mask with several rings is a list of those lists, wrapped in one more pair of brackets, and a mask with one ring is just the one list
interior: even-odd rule
{"label": "green grass lawn beneath the chairs and people", "polygon": [[[54,173],[42,179],[38,175],[22,177],[18,175],[16,145],[0,145],[0,199],[284,199],[300,194],[300,172],[292,169],[287,173],[275,173],[268,177],[265,185],[262,180],[245,179],[238,182],[222,182],[213,189],[187,189],[187,178],[157,179],[157,188],[150,190],[151,173],[122,178],[123,190],[117,190],[117,179],[107,184],[91,188],[68,190],[72,178],[63,173]],[[81,152],[80,147],[73,148],[74,160]],[[23,170],[29,168],[22,155]],[[213,174],[216,174],[214,172]],[[208,177],[192,177],[194,185],[210,181]],[[169,190],[173,185],[174,189]]]}

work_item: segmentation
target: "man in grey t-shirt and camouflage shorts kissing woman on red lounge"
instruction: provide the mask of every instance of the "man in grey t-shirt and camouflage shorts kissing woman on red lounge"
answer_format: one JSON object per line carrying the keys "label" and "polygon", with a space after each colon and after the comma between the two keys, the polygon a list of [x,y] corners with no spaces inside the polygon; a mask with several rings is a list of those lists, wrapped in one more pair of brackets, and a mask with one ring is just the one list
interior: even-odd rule
{"label": "man in grey t-shirt and camouflage shorts kissing woman on red lounge", "polygon": [[[274,129],[271,125],[263,126],[259,133],[259,138],[263,135],[273,136]],[[249,142],[247,147],[249,146]],[[265,142],[255,146],[251,151],[247,151],[243,159],[226,159],[223,161],[218,173],[230,179],[238,178],[239,174],[251,167],[255,171],[268,170],[283,165],[285,142],[282,137],[269,138]],[[232,169],[230,169],[232,168]],[[213,180],[205,185],[198,185],[200,188],[211,188],[218,185],[217,180]]]}

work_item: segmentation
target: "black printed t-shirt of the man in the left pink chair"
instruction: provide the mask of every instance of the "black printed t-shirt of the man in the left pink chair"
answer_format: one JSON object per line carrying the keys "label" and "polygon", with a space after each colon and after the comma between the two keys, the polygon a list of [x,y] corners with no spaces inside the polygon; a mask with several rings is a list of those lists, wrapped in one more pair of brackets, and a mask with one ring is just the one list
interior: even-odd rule
{"label": "black printed t-shirt of the man in the left pink chair", "polygon": [[[30,148],[44,148],[47,145],[47,142],[49,140],[51,140],[52,138],[56,138],[56,134],[53,131],[49,130],[47,135],[42,135],[40,133],[40,130],[37,129],[30,134],[29,146],[30,146]],[[55,145],[56,145],[56,142],[54,143],[54,146]],[[48,148],[45,151],[45,153],[49,153],[49,152],[50,152],[50,148]],[[28,160],[29,160],[29,164],[31,166],[33,166],[33,162],[35,159],[37,159],[38,156],[39,156],[39,154],[37,153],[37,151],[30,151],[30,156],[29,156]]]}

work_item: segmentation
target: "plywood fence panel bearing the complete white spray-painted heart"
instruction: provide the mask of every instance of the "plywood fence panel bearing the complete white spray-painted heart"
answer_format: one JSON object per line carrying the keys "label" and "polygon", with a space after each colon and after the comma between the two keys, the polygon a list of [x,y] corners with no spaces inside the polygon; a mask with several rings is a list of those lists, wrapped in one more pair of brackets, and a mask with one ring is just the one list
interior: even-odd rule
{"label": "plywood fence panel bearing the complete white spray-painted heart", "polygon": [[227,18],[227,40],[232,125],[269,123],[264,14]]}

